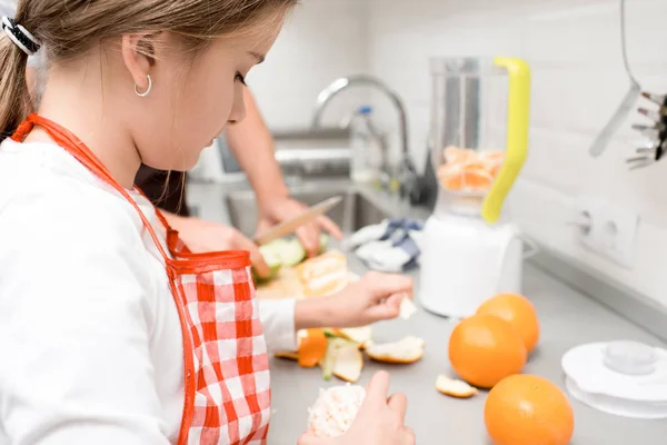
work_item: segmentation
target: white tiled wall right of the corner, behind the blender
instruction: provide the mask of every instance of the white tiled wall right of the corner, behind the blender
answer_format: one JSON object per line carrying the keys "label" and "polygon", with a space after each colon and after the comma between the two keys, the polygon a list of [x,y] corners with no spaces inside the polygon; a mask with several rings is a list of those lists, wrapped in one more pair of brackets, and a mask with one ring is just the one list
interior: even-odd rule
{"label": "white tiled wall right of the corner, behind the blender", "polygon": [[[628,171],[638,139],[631,119],[598,159],[587,149],[628,81],[618,0],[368,0],[370,71],[407,102],[415,160],[426,147],[431,56],[518,56],[532,67],[529,160],[512,215],[540,241],[667,305],[667,160]],[[331,1],[328,4],[335,4]],[[649,90],[667,92],[666,0],[628,0],[631,66]],[[663,31],[661,31],[663,30]],[[599,195],[641,215],[628,270],[580,248],[566,221],[577,195]]]}

